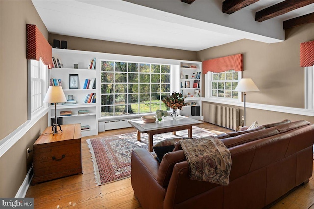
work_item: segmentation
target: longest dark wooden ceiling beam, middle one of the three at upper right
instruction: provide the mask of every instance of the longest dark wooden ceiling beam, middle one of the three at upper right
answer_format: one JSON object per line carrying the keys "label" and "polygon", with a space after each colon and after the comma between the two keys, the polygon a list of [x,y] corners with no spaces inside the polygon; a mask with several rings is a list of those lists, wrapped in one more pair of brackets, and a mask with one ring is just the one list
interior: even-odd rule
{"label": "longest dark wooden ceiling beam, middle one of the three at upper right", "polygon": [[255,13],[255,20],[262,22],[294,9],[314,3],[314,0],[285,0]]}

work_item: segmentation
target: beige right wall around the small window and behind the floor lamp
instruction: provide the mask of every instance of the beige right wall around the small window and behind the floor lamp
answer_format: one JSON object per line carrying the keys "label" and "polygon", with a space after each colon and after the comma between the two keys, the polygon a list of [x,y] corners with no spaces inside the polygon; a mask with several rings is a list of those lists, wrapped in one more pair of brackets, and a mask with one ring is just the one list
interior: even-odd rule
{"label": "beige right wall around the small window and behind the floor lamp", "polygon": [[[197,52],[204,61],[216,57],[242,53],[243,78],[252,78],[259,92],[248,92],[246,102],[304,108],[304,68],[300,67],[300,43],[314,39],[314,23],[286,30],[284,42],[266,44],[239,40]],[[204,76],[203,76],[204,80]],[[204,84],[205,82],[203,82]],[[203,88],[204,90],[204,88]],[[203,91],[204,96],[204,91]],[[241,114],[244,115],[243,108]],[[247,108],[247,124],[260,120],[307,119],[314,117],[291,115]]]}

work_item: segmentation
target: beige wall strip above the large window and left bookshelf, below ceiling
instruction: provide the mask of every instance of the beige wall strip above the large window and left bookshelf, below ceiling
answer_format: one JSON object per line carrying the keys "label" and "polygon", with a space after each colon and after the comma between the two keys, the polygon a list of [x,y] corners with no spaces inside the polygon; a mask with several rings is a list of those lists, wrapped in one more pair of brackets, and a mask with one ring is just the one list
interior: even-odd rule
{"label": "beige wall strip above the large window and left bookshelf, below ceiling", "polygon": [[86,39],[73,36],[49,34],[49,43],[53,45],[53,39],[67,41],[67,48],[81,51],[95,51],[111,54],[124,54],[133,56],[156,57],[178,60],[196,60],[195,51],[185,51],[154,46],[143,46],[110,42],[97,39]]}

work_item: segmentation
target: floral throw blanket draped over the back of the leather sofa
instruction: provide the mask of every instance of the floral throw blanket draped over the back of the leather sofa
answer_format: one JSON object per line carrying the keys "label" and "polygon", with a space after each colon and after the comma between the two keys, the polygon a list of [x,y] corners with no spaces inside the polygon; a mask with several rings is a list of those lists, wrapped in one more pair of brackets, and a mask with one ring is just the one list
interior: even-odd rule
{"label": "floral throw blanket draped over the back of the leather sofa", "polygon": [[215,137],[180,141],[190,167],[190,179],[229,184],[231,154],[226,146]]}

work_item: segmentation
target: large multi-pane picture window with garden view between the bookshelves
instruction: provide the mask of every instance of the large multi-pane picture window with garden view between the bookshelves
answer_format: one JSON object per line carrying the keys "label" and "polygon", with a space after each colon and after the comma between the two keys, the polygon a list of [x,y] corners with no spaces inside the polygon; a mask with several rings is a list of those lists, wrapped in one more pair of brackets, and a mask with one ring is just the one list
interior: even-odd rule
{"label": "large multi-pane picture window with garden view between the bookshelves", "polygon": [[168,110],[171,65],[101,60],[101,117]]}

